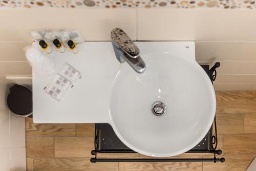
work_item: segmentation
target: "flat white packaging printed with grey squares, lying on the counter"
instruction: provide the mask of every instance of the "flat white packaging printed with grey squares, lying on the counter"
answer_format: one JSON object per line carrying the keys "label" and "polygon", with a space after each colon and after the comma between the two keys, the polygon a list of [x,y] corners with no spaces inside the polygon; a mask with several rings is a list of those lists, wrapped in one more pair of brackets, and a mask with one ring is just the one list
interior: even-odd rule
{"label": "flat white packaging printed with grey squares, lying on the counter", "polygon": [[81,74],[68,63],[65,63],[56,74],[45,91],[54,99],[60,101],[66,93],[74,86],[76,81],[81,78]]}

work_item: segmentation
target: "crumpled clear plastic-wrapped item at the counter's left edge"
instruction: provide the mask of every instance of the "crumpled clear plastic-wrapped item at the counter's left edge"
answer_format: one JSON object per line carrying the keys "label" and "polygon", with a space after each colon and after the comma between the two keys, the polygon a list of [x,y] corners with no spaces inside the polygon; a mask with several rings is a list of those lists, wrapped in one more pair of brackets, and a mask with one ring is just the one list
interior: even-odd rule
{"label": "crumpled clear plastic-wrapped item at the counter's left edge", "polygon": [[41,77],[47,77],[55,72],[54,62],[48,56],[40,53],[40,51],[33,47],[27,47],[26,57],[29,61],[33,71]]}

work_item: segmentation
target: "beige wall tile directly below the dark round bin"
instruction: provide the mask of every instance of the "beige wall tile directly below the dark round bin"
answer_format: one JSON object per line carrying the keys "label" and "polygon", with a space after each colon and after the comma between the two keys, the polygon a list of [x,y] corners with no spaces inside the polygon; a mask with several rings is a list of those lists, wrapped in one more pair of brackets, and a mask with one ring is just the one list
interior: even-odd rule
{"label": "beige wall tile directly below the dark round bin", "polygon": [[25,147],[25,118],[10,112],[10,147]]}

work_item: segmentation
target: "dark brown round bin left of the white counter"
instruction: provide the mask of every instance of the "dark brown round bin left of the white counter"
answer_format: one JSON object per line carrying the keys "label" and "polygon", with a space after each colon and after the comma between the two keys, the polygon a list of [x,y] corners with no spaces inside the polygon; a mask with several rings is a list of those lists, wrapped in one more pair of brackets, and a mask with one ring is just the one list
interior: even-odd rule
{"label": "dark brown round bin left of the white counter", "polygon": [[32,113],[32,92],[26,87],[15,85],[10,88],[7,97],[9,109],[17,115],[28,115]]}

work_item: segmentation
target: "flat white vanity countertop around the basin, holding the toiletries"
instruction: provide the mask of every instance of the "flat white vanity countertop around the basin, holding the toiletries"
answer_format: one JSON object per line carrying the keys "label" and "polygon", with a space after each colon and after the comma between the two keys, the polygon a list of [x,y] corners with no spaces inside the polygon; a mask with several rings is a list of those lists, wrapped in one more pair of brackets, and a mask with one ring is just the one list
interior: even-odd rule
{"label": "flat white vanity countertop around the basin, holding the toiletries", "polygon": [[[143,54],[169,52],[195,60],[193,41],[139,41],[135,44]],[[41,78],[33,71],[33,121],[35,123],[109,123],[111,90],[113,80],[126,62],[119,63],[112,44],[105,42],[84,42],[79,53],[53,51],[56,71],[67,62],[81,73],[75,86],[57,101],[44,88],[49,86],[56,74]],[[135,72],[131,68],[131,72]],[[146,70],[145,70],[146,72]]]}

